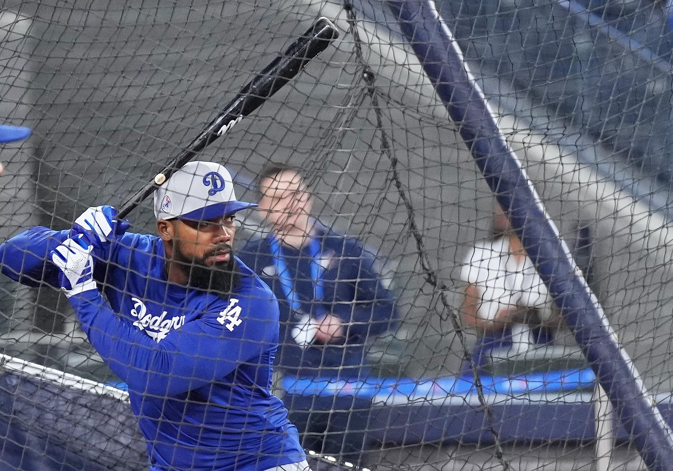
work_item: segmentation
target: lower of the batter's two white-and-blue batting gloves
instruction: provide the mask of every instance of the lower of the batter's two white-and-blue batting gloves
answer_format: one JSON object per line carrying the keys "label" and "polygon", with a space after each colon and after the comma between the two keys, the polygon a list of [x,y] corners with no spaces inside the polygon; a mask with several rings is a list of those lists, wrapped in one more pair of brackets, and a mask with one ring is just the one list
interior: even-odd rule
{"label": "lower of the batter's two white-and-blue batting gloves", "polygon": [[98,289],[94,281],[93,247],[82,238],[66,239],[50,252],[51,260],[61,270],[59,283],[67,297]]}

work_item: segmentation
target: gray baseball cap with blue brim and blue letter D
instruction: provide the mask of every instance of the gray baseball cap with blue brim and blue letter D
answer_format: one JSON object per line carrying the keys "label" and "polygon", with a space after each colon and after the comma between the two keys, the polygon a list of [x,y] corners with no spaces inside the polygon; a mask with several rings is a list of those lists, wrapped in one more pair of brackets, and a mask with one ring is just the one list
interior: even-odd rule
{"label": "gray baseball cap with blue brim and blue letter D", "polygon": [[255,206],[236,199],[231,174],[215,162],[189,162],[154,191],[157,219],[201,221]]}

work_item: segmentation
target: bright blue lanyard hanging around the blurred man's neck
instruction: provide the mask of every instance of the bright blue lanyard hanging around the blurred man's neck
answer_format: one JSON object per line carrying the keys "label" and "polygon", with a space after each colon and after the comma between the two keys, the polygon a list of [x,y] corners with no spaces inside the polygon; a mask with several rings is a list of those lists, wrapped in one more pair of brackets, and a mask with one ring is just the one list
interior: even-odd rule
{"label": "bright blue lanyard hanging around the blurred man's neck", "polygon": [[[278,238],[269,236],[269,247],[271,248],[271,255],[273,256],[276,265],[276,274],[278,275],[281,287],[283,288],[285,299],[287,299],[287,302],[293,311],[302,312],[302,303],[299,301],[292,275],[287,268],[287,262],[285,262],[285,254],[283,253],[281,242]],[[311,280],[313,282],[313,298],[314,301],[316,301],[315,310],[320,316],[324,316],[326,313],[324,312],[324,307],[320,304],[324,298],[324,281],[322,280],[324,268],[320,264],[320,242],[315,238],[311,238],[307,248],[308,252],[311,254]],[[301,250],[299,252],[301,252]]]}

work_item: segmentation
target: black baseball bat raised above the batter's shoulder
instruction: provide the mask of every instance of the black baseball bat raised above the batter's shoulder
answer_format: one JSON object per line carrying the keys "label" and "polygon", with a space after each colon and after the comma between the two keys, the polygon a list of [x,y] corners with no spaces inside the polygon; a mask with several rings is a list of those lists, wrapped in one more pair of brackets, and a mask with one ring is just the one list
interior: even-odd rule
{"label": "black baseball bat raised above the batter's shoulder", "polygon": [[259,108],[273,96],[299,71],[325,50],[330,43],[339,38],[339,31],[330,20],[320,17],[302,36],[299,36],[283,54],[274,59],[267,67],[249,81],[238,95],[213,119],[192,142],[190,142],[172,161],[157,173],[154,180],[131,196],[118,213],[123,219],[137,205],[149,196],[158,186],[190,161],[201,149],[204,149],[218,137],[232,129],[244,116]]}

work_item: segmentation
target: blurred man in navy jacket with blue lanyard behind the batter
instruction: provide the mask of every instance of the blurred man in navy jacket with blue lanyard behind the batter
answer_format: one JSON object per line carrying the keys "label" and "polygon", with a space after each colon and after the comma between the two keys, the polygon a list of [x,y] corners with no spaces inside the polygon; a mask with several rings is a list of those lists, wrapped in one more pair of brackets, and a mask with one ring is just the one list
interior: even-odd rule
{"label": "blurred man in navy jacket with blue lanyard behind the batter", "polygon": [[[398,319],[390,280],[362,242],[312,217],[312,196],[298,172],[264,168],[258,190],[269,233],[249,242],[240,256],[279,299],[276,364],[286,377],[364,379],[367,347]],[[293,407],[287,395],[285,405],[304,449],[357,464],[371,445],[365,433],[369,399],[316,396],[307,410]]]}

